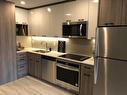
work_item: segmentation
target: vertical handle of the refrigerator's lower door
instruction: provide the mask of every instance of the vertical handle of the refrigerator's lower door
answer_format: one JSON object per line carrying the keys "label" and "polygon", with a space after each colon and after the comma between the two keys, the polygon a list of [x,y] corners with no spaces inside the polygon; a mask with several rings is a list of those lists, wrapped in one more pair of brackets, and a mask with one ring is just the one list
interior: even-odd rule
{"label": "vertical handle of the refrigerator's lower door", "polygon": [[95,59],[95,67],[94,67],[94,84],[97,84],[99,75],[99,59]]}

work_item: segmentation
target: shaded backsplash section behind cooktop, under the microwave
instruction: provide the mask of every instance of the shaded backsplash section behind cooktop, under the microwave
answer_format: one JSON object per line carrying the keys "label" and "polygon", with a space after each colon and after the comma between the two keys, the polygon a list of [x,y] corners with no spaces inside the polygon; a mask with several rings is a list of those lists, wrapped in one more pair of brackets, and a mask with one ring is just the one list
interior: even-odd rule
{"label": "shaded backsplash section behind cooktop, under the microwave", "polygon": [[76,53],[83,55],[93,55],[93,43],[92,40],[87,39],[70,39],[66,45],[67,53]]}

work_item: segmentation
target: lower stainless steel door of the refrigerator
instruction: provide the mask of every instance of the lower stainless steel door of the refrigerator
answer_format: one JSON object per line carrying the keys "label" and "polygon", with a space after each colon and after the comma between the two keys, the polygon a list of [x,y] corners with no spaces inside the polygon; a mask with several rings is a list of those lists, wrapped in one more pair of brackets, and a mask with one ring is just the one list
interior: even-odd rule
{"label": "lower stainless steel door of the refrigerator", "polygon": [[93,95],[127,95],[127,62],[102,58],[96,62],[99,69]]}

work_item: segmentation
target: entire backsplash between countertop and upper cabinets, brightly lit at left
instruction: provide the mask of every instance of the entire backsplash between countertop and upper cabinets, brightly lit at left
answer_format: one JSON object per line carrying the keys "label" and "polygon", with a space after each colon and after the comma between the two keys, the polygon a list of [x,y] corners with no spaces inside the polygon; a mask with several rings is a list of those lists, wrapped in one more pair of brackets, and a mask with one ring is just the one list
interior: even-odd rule
{"label": "entire backsplash between countertop and upper cabinets, brightly lit at left", "polygon": [[47,44],[47,48],[52,48],[53,51],[58,51],[59,40],[66,41],[66,53],[93,55],[92,40],[17,36],[17,42],[21,42],[24,47],[46,49]]}

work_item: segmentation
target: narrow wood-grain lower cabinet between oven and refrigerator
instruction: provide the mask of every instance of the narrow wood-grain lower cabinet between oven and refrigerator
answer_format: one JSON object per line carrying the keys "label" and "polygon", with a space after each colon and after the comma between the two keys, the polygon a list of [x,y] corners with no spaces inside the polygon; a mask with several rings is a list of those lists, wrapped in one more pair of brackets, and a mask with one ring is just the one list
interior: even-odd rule
{"label": "narrow wood-grain lower cabinet between oven and refrigerator", "polygon": [[93,95],[94,67],[82,64],[79,95]]}

